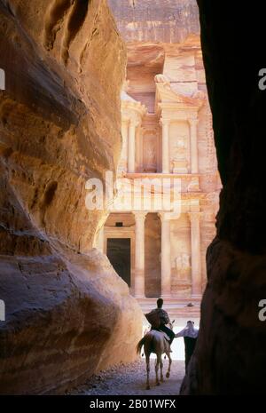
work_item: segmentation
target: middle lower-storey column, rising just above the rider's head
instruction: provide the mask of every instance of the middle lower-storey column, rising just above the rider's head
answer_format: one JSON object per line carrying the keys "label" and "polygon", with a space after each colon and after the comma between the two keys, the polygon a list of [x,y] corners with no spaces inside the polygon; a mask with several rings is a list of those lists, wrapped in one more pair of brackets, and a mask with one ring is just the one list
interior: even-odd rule
{"label": "middle lower-storey column, rising just above the rider's head", "polygon": [[161,222],[161,296],[171,297],[171,242],[170,220],[165,212],[160,212]]}

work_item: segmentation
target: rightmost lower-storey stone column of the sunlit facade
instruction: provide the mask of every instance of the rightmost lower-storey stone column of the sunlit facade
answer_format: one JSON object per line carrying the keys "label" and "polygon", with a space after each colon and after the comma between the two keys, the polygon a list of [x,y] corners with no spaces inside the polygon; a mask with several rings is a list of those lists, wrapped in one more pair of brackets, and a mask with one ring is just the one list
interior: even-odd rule
{"label": "rightmost lower-storey stone column of the sunlit facade", "polygon": [[201,295],[200,212],[189,212],[192,238],[192,297]]}

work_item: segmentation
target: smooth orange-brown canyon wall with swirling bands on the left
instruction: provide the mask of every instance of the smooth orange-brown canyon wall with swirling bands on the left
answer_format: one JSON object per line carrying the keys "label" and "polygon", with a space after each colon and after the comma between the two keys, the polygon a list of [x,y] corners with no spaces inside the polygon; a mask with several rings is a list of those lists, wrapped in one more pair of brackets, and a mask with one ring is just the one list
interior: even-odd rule
{"label": "smooth orange-brown canyon wall with swirling bands on the left", "polygon": [[85,183],[121,150],[126,53],[106,1],[0,1],[0,393],[133,361],[141,312],[94,239]]}

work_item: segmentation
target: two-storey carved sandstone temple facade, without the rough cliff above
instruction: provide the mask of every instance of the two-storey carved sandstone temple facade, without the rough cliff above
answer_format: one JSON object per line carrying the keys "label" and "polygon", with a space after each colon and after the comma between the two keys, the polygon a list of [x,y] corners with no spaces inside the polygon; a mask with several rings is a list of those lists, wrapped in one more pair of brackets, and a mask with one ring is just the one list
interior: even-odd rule
{"label": "two-storey carved sandstone temple facade, without the rough cliff above", "polygon": [[[123,195],[132,200],[134,179],[140,187],[147,178],[177,179],[180,213],[156,209],[154,203],[150,210],[124,205],[110,212],[98,248],[143,306],[158,297],[199,304],[221,188],[200,38],[128,44],[128,54],[118,167],[128,184]],[[147,190],[154,196],[153,186],[134,194],[144,201]]]}

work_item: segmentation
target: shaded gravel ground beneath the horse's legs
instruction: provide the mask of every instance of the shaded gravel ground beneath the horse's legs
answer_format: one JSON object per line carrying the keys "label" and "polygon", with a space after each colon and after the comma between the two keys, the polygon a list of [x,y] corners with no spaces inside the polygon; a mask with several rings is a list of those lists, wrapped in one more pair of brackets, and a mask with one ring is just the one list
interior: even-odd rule
{"label": "shaded gravel ground beneath the horse's legs", "polygon": [[[173,361],[171,377],[165,378],[164,383],[155,385],[154,359],[150,361],[151,390],[145,390],[146,370],[145,360],[141,359],[129,365],[119,365],[113,369],[93,376],[84,385],[66,394],[79,395],[177,395],[184,377],[184,361]],[[163,360],[163,373],[168,369],[168,360]]]}

